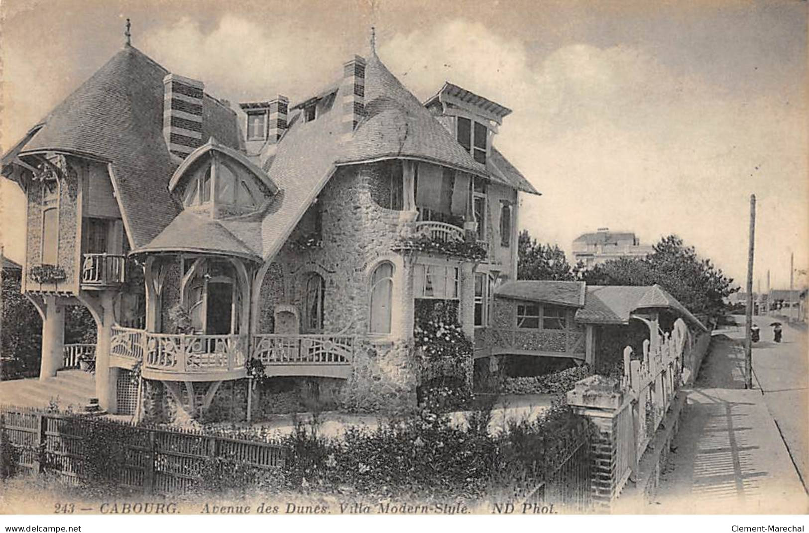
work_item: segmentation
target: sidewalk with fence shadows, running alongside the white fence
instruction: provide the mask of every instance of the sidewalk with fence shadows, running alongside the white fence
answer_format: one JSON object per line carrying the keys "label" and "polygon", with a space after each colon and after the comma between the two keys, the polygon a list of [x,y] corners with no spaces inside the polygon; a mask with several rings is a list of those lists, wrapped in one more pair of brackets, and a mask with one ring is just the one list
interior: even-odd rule
{"label": "sidewalk with fence shadows, running alongside the white fence", "polygon": [[[715,335],[688,393],[659,492],[649,513],[797,514],[809,510],[760,390],[744,389],[738,340]],[[803,408],[795,406],[795,408]]]}

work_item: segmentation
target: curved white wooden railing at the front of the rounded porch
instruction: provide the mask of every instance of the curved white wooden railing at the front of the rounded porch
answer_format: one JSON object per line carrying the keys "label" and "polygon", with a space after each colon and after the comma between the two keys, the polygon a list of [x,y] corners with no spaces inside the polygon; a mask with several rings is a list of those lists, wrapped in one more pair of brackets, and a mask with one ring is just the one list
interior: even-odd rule
{"label": "curved white wooden railing at the front of the rounded porch", "polygon": [[244,370],[246,336],[146,333],[144,368],[178,373]]}

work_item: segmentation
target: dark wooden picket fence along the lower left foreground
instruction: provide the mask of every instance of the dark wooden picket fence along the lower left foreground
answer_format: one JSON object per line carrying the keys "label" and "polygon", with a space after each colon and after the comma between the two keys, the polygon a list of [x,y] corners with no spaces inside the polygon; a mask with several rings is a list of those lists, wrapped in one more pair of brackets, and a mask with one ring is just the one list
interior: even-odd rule
{"label": "dark wooden picket fence along the lower left foreground", "polygon": [[7,438],[19,451],[18,466],[54,473],[69,484],[86,480],[85,462],[92,447],[87,441],[95,429],[116,436],[112,446],[119,457],[109,479],[147,494],[192,489],[211,459],[268,471],[286,464],[286,448],[269,442],[0,406],[0,440]]}

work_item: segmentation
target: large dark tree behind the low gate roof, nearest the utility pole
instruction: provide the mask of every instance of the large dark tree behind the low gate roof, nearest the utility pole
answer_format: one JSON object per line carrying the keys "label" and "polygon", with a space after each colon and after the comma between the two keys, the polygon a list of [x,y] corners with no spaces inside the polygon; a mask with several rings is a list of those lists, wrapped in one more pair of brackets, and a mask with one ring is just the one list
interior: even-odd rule
{"label": "large dark tree behind the low gate roof, nearest the utility pole", "polygon": [[654,245],[645,260],[620,259],[598,264],[582,274],[589,285],[657,284],[695,315],[722,315],[725,298],[739,290],[709,259],[701,259],[693,246],[677,235],[668,235]]}

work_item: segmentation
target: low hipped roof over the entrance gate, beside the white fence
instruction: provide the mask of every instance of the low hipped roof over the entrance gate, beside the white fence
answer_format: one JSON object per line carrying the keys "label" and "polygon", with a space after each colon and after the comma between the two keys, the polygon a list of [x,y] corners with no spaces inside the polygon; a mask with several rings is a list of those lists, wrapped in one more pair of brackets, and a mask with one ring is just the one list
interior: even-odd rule
{"label": "low hipped roof over the entrance gate, beside the white fence", "polygon": [[707,330],[682,303],[663,287],[654,286],[588,286],[584,307],[576,311],[582,324],[628,324],[629,316],[643,309],[665,308]]}

